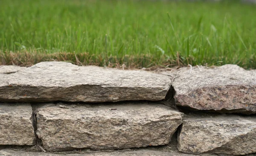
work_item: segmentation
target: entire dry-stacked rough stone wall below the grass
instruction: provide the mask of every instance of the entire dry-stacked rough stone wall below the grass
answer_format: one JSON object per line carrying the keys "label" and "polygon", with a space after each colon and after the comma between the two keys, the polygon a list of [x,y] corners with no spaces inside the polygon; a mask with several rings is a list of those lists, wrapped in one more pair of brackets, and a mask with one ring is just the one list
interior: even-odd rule
{"label": "entire dry-stacked rough stone wall below the grass", "polygon": [[256,70],[0,66],[0,155],[256,154]]}

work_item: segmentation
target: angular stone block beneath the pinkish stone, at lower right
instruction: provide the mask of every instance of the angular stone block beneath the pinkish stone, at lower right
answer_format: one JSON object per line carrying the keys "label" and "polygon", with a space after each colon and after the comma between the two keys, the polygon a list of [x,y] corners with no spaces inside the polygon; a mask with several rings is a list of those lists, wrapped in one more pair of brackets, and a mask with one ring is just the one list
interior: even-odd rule
{"label": "angular stone block beneath the pinkish stone, at lower right", "polygon": [[185,116],[177,137],[183,153],[256,153],[256,116]]}

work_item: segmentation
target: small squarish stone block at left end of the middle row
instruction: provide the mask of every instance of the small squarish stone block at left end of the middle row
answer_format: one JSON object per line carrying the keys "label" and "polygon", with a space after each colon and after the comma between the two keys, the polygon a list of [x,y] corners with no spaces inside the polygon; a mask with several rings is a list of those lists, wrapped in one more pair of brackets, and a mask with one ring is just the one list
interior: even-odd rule
{"label": "small squarish stone block at left end of the middle row", "polygon": [[35,133],[29,104],[0,103],[0,145],[33,145]]}

